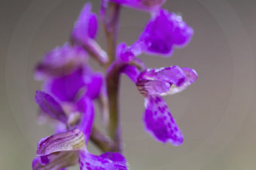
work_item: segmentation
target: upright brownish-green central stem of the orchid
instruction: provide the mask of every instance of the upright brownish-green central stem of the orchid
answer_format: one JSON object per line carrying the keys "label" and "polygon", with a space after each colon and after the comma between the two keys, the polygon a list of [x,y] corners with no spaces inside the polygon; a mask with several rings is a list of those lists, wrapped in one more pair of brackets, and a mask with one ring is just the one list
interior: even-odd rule
{"label": "upright brownish-green central stem of the orchid", "polygon": [[[106,9],[105,9],[106,10]],[[102,14],[102,20],[105,26],[105,34],[108,45],[108,63],[106,69],[106,83],[109,105],[109,122],[108,134],[114,144],[111,151],[122,152],[120,114],[118,108],[118,93],[119,93],[119,68],[108,68],[115,60],[115,51],[117,47],[117,32],[120,16],[120,5],[114,2],[109,2],[108,9]]]}

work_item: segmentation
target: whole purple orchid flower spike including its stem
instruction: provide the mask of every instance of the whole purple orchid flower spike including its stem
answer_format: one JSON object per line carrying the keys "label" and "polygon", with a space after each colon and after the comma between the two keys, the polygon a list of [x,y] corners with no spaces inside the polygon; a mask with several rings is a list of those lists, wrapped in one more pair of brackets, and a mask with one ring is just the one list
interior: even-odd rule
{"label": "whole purple orchid flower spike including its stem", "polygon": [[[81,169],[127,169],[121,154],[118,129],[118,83],[120,74],[126,74],[145,97],[143,123],[145,130],[162,143],[180,145],[184,138],[162,96],[186,89],[197,80],[197,72],[177,65],[166,68],[147,68],[138,56],[142,53],[169,57],[175,47],[184,47],[194,31],[182,18],[161,8],[165,0],[102,0],[101,15],[107,38],[112,42],[115,57],[97,44],[96,14],[87,3],[75,22],[71,41],[46,53],[35,68],[35,79],[42,80],[42,90],[36,91],[35,102],[40,115],[55,127],[55,133],[38,142],[33,169],[63,169],[79,163]],[[116,28],[108,22],[106,11],[110,6],[118,11],[120,5],[147,11],[151,14],[144,31],[130,46],[114,46]],[[113,9],[113,8],[112,8]],[[116,13],[113,13],[116,15]],[[116,17],[115,17],[116,18]],[[111,36],[111,33],[113,36]],[[88,63],[92,56],[105,68],[105,75],[93,71]],[[104,119],[111,132],[109,137],[93,125],[94,102],[99,102]],[[114,116],[113,116],[114,115]],[[114,118],[113,118],[114,117]],[[114,128],[111,128],[114,127]],[[112,132],[114,130],[114,132]],[[114,135],[113,135],[114,134]],[[93,141],[104,153],[97,156],[88,151]],[[118,147],[117,147],[118,145]]]}

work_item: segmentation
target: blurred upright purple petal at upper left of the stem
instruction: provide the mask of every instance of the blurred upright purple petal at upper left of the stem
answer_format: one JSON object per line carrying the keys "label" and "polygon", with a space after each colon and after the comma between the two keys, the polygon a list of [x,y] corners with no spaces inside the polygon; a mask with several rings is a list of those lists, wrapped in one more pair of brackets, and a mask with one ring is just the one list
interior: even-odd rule
{"label": "blurred upright purple petal at upper left of the stem", "polygon": [[85,43],[88,38],[95,38],[98,29],[96,14],[91,13],[92,5],[84,5],[72,31],[72,38],[79,43]]}

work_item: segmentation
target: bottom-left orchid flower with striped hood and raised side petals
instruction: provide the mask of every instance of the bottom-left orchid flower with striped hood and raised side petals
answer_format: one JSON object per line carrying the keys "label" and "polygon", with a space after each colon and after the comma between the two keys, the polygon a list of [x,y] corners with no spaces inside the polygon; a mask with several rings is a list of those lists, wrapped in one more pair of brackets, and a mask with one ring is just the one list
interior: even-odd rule
{"label": "bottom-left orchid flower with striped hood and raised side petals", "polygon": [[[61,105],[49,94],[38,91],[35,99],[51,117],[59,120],[60,114],[68,119]],[[90,98],[85,96],[80,99],[75,111],[81,114],[81,120],[66,123],[66,132],[56,133],[39,141],[37,157],[33,160],[32,168],[60,169],[79,162],[81,169],[127,169],[126,160],[120,153],[106,152],[96,156],[87,150],[94,120],[94,107]]]}

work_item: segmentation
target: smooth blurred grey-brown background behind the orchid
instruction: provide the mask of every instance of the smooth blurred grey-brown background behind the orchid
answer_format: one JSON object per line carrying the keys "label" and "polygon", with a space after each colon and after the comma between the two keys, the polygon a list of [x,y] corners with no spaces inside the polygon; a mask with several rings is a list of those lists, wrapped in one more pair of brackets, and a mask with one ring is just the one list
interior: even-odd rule
{"label": "smooth blurred grey-brown background behind the orchid", "polygon": [[[37,122],[33,68],[48,50],[69,39],[85,0],[2,0],[0,5],[0,169],[31,169],[37,142],[53,132]],[[99,11],[99,0],[90,1]],[[148,67],[179,65],[199,79],[165,97],[184,144],[154,141],[142,125],[144,100],[125,76],[120,88],[124,154],[132,170],[256,169],[256,2],[168,0],[194,28],[187,47],[172,57],[141,56]],[[118,41],[132,44],[149,14],[123,8]],[[105,48],[102,26],[97,37]],[[99,65],[91,61],[94,68]],[[100,126],[99,117],[96,123]],[[99,153],[93,144],[89,150]],[[78,167],[72,168],[78,169]]]}

